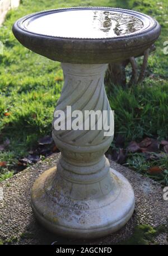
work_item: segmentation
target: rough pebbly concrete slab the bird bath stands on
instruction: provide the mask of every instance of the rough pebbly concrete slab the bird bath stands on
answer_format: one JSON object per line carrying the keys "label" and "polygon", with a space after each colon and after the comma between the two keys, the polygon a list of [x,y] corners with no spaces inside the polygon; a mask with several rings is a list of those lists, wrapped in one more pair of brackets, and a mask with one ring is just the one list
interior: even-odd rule
{"label": "rough pebbly concrete slab the bird bath stands on", "polygon": [[[91,241],[65,239],[48,232],[34,218],[30,194],[36,178],[46,169],[56,165],[58,158],[59,153],[56,153],[0,184],[4,190],[4,199],[0,201],[0,239],[8,239],[12,244],[51,244],[54,241],[57,241],[56,244],[116,244],[128,239],[134,227],[139,224],[149,224],[153,227],[167,224],[168,201],[163,199],[161,185],[111,162],[111,167],[122,173],[134,189],[136,208],[128,223],[114,234]],[[165,235],[162,234],[155,238],[155,241],[159,244],[168,244]]]}

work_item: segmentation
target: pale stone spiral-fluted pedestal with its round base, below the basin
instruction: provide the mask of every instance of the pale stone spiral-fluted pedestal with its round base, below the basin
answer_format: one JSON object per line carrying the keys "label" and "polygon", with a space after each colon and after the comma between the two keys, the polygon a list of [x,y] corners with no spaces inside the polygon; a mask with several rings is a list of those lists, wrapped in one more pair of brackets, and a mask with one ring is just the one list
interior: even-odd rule
{"label": "pale stone spiral-fluted pedestal with its round base, below the basin", "polygon": [[[62,63],[65,81],[56,110],[66,116],[67,106],[82,113],[108,110],[110,114],[104,89],[106,66]],[[36,180],[31,198],[36,217],[49,230],[96,238],[120,229],[132,216],[133,189],[123,175],[110,169],[104,153],[113,136],[104,132],[91,127],[87,131],[53,129],[61,157],[57,169],[45,171]]]}

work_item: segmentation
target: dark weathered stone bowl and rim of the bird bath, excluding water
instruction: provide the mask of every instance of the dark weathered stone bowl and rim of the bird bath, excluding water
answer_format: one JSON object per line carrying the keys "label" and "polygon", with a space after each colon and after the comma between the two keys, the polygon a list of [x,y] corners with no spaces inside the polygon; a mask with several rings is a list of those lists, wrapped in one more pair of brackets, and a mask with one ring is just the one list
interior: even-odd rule
{"label": "dark weathered stone bowl and rim of the bird bath, excluding water", "polygon": [[[73,10],[102,10],[124,12],[140,18],[144,26],[141,30],[126,36],[116,36],[115,38],[69,38],[46,35],[45,31],[29,31],[29,23],[39,16],[49,13]],[[68,21],[67,21],[68,22]],[[80,21],[79,21],[80,22]],[[48,26],[52,26],[48,24]],[[44,11],[20,18],[13,25],[13,34],[20,43],[33,52],[59,62],[76,64],[100,64],[121,62],[131,56],[142,54],[148,49],[160,35],[161,27],[155,19],[143,13],[107,7],[73,7]]]}

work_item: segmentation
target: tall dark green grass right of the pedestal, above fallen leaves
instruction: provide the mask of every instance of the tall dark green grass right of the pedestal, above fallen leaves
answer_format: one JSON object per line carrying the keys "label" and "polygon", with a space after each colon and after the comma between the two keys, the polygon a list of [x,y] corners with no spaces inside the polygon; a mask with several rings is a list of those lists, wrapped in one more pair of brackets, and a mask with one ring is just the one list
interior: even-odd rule
{"label": "tall dark green grass right of the pedestal, above fallen leaves", "polygon": [[[158,86],[159,85],[159,86]],[[115,110],[115,128],[130,141],[146,136],[166,138],[168,134],[168,86],[147,78],[143,86],[123,90],[116,87],[109,96]]]}

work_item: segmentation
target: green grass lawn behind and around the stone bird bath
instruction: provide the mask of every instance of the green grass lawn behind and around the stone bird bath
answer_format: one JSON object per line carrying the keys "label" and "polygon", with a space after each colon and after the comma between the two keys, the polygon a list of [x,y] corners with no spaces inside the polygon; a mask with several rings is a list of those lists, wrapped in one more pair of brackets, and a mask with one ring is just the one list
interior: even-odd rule
{"label": "green grass lawn behind and around the stone bird bath", "polygon": [[[13,22],[32,12],[74,6],[128,8],[147,13],[160,22],[162,33],[148,60],[144,82],[126,90],[119,86],[108,90],[111,109],[115,111],[115,137],[109,153],[120,151],[116,140],[121,137],[122,152],[131,141],[149,137],[160,143],[168,139],[168,57],[163,53],[164,41],[168,40],[167,0],[22,0],[17,10],[8,12],[0,28],[4,44],[0,55],[0,181],[17,173],[18,160],[34,150],[40,138],[50,135],[54,107],[63,85],[60,63],[32,53],[18,43],[11,30]],[[158,152],[151,151],[150,156],[146,152],[128,152],[123,164],[168,184],[167,153],[162,147]],[[149,173],[151,167],[161,171]]]}

